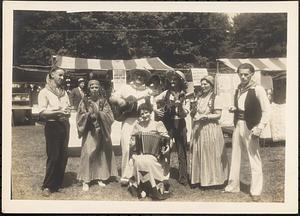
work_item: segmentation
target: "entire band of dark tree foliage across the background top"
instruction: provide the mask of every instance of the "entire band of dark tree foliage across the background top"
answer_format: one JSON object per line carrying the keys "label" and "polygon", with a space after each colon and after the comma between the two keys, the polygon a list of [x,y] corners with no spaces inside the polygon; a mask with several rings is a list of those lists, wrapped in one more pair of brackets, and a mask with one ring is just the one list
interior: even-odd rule
{"label": "entire band of dark tree foliage across the background top", "polygon": [[[264,22],[261,22],[264,20]],[[249,44],[256,44],[249,49]],[[173,67],[213,67],[216,58],[286,52],[286,14],[15,11],[14,64],[51,55],[101,59],[158,56]]]}

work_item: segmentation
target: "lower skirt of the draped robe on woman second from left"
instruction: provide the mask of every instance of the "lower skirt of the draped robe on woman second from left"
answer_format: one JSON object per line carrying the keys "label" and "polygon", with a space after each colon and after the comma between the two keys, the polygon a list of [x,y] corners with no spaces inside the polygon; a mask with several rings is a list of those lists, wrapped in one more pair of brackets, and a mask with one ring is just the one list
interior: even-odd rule
{"label": "lower skirt of the draped robe on woman second from left", "polygon": [[[117,164],[112,146],[102,145],[96,150],[98,140],[88,132],[83,138],[79,172],[77,179],[90,182],[92,180],[107,180],[111,176],[118,176]],[[101,145],[101,144],[100,144]]]}

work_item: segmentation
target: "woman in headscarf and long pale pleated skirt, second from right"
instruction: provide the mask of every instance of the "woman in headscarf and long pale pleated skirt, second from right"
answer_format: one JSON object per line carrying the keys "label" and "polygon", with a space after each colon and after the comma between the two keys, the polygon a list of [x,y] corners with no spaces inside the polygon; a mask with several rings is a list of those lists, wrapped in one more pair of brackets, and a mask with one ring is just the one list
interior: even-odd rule
{"label": "woman in headscarf and long pale pleated skirt, second from right", "polygon": [[201,79],[202,94],[191,111],[191,184],[222,185],[228,177],[228,160],[223,133],[218,124],[221,108],[213,93],[214,78]]}

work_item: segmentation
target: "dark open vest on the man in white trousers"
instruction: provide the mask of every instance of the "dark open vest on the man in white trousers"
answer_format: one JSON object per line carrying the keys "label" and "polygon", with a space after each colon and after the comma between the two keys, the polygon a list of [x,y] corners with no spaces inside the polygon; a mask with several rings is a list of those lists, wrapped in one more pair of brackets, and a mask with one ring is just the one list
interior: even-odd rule
{"label": "dark open vest on the man in white trousers", "polygon": [[[238,107],[237,92],[238,90],[235,91],[235,95],[234,95],[235,107]],[[255,89],[249,89],[245,99],[245,113],[244,113],[247,128],[251,130],[254,126],[256,126],[260,122],[261,116],[262,116],[261,106],[259,100],[256,97]],[[233,117],[234,126],[236,126],[237,121],[238,121],[237,113],[234,113],[234,117]]]}

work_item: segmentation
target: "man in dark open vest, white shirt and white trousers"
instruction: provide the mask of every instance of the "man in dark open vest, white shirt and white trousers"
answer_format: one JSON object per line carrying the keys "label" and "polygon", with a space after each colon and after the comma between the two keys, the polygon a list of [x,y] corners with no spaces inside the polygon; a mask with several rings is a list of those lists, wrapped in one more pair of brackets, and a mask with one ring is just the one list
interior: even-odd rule
{"label": "man in dark open vest, white shirt and white trousers", "polygon": [[234,96],[235,129],[232,136],[232,156],[228,185],[225,192],[240,191],[241,147],[246,147],[250,167],[250,195],[259,201],[263,186],[262,162],[259,154],[259,137],[269,121],[270,103],[264,88],[251,78],[254,75],[251,64],[241,64],[237,73],[241,80]]}

